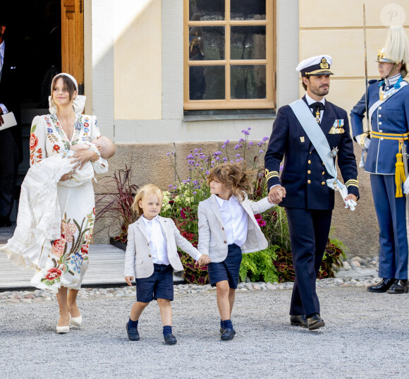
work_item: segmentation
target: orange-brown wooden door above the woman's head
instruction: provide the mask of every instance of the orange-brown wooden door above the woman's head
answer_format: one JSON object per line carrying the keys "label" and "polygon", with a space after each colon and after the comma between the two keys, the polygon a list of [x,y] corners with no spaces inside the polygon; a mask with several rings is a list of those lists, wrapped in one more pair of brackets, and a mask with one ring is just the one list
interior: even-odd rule
{"label": "orange-brown wooden door above the woman's head", "polygon": [[79,95],[84,93],[83,11],[83,0],[61,0],[61,68],[77,80]]}

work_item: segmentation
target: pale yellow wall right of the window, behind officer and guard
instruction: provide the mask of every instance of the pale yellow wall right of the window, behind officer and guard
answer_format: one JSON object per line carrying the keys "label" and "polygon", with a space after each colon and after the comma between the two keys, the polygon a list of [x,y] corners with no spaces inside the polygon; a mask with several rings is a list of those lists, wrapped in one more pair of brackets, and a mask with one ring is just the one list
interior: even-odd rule
{"label": "pale yellow wall right of the window, behind officer and guard", "polygon": [[[320,54],[332,56],[334,76],[327,98],[348,114],[365,92],[362,4],[357,0],[299,1],[300,61]],[[375,59],[384,46],[389,25],[403,20],[409,34],[409,1],[365,1],[365,10],[368,77],[377,79]],[[300,95],[304,93],[300,83]]]}

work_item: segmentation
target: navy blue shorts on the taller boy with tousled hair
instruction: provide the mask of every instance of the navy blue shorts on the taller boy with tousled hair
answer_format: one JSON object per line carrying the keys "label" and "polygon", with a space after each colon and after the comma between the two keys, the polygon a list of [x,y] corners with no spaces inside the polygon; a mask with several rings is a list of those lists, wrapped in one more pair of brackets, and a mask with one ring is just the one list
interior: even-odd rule
{"label": "navy blue shorts on the taller boy with tousled hair", "polygon": [[210,284],[212,287],[222,280],[228,281],[228,286],[236,289],[238,286],[238,275],[241,264],[241,248],[232,243],[228,245],[226,259],[223,262],[209,263],[207,265],[207,272],[209,272]]}

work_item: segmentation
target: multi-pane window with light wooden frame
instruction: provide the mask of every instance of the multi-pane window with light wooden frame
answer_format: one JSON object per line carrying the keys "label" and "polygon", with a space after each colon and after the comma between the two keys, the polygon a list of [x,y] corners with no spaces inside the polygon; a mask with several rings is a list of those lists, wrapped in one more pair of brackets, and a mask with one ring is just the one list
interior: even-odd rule
{"label": "multi-pane window with light wooden frame", "polygon": [[184,107],[274,108],[274,0],[184,0]]}

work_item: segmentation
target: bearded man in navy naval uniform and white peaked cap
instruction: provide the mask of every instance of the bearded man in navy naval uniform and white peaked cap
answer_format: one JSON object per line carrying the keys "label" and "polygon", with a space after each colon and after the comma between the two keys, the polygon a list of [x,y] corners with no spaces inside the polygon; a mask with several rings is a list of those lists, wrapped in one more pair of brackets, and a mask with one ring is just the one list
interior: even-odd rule
{"label": "bearded man in navy naval uniform and white peaked cap", "polygon": [[[298,100],[298,104],[307,111],[303,118],[298,118],[292,107],[295,102],[279,109],[264,163],[270,188],[269,198],[286,208],[288,218],[295,269],[290,322],[309,330],[325,325],[320,316],[315,282],[328,241],[335,191],[327,186],[327,179],[334,176],[329,174],[324,161],[329,160],[334,166],[335,156],[338,155],[338,166],[346,186],[339,184],[344,187],[345,193],[348,191],[343,198],[346,206],[350,205],[352,210],[359,197],[348,116],[346,111],[324,97],[329,92],[329,76],[333,75],[331,64],[331,57],[324,55],[305,59],[298,65],[297,71],[301,73],[303,88],[307,91],[303,102]],[[305,124],[308,117],[312,117],[309,120],[312,132],[320,133],[328,151],[331,150],[328,157],[319,155],[313,143],[319,145],[316,138],[307,135]],[[341,198],[337,200],[341,201]]]}

